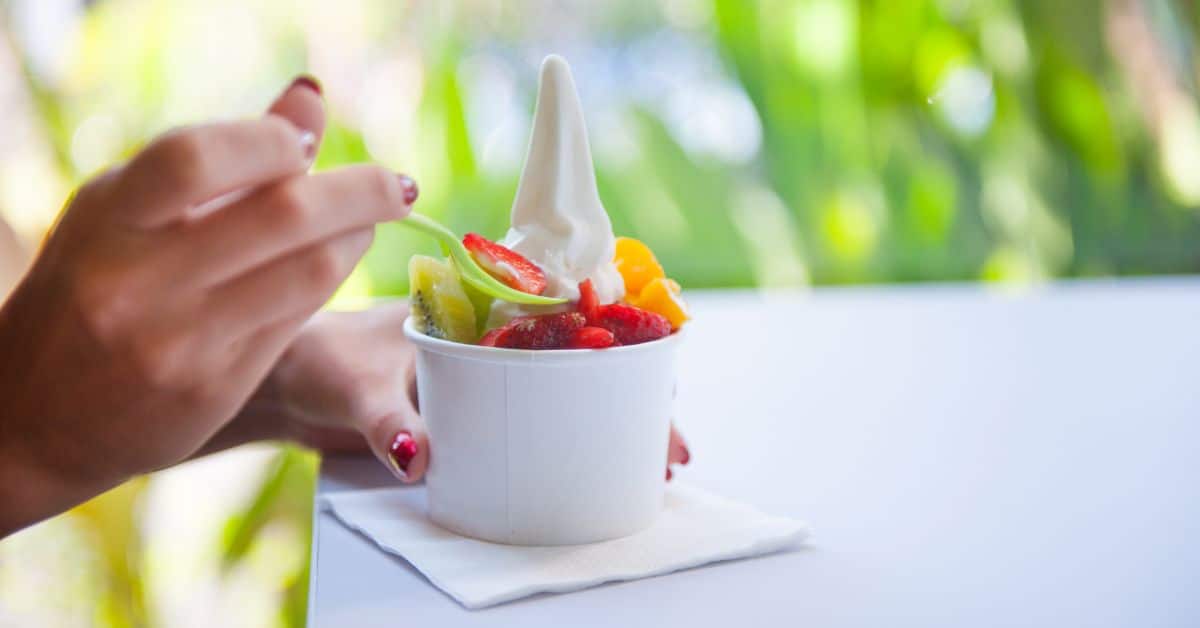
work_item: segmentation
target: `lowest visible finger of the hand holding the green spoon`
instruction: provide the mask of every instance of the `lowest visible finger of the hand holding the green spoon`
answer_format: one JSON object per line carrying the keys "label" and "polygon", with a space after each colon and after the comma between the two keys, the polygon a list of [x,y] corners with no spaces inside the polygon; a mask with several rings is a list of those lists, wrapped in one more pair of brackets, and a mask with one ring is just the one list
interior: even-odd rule
{"label": "lowest visible finger of the hand holding the green spoon", "polygon": [[358,228],[281,257],[209,293],[206,316],[240,337],[278,321],[312,316],[354,270],[374,239]]}

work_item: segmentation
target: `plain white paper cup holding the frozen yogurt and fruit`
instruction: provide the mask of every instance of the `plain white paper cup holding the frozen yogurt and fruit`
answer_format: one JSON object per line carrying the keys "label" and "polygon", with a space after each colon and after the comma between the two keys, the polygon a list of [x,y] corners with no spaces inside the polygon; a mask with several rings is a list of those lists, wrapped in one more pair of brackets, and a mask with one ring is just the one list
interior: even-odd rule
{"label": "plain white paper cup holding the frozen yogurt and fruit", "polygon": [[680,334],[582,351],[421,334],[430,518],[478,539],[572,545],[632,534],[662,507]]}

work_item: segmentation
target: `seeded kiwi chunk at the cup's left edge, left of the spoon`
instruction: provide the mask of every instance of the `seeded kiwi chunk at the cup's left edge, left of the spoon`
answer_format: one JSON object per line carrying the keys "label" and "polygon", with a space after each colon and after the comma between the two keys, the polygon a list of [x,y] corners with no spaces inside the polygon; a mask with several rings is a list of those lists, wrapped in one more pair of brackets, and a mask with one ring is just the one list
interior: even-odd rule
{"label": "seeded kiwi chunk at the cup's left edge, left of the spoon", "polygon": [[475,342],[475,306],[449,261],[424,255],[408,261],[409,306],[413,323],[427,336]]}

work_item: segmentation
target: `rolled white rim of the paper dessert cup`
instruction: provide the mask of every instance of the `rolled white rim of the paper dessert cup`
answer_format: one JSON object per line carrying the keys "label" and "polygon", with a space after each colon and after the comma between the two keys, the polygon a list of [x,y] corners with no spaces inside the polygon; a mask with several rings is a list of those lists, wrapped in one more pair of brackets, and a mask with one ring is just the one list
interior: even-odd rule
{"label": "rolled white rim of the paper dessert cup", "polygon": [[510,349],[503,347],[484,347],[480,345],[467,345],[452,340],[443,340],[428,336],[419,331],[413,324],[413,317],[404,318],[404,335],[418,347],[452,355],[482,361],[506,361],[506,363],[580,363],[596,359],[630,359],[656,351],[670,351],[684,336],[683,328],[677,329],[670,336],[638,345],[625,345],[622,347],[607,347],[602,349]]}

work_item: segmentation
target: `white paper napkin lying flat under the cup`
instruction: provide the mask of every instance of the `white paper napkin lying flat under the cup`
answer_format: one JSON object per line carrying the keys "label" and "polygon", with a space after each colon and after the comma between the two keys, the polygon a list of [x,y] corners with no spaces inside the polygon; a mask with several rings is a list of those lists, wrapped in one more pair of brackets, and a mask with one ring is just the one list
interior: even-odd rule
{"label": "white paper napkin lying flat under the cup", "polygon": [[337,492],[325,495],[322,503],[468,609],[758,556],[808,537],[802,521],[770,516],[678,482],[667,489],[665,508],[648,530],[558,548],[499,545],[445,531],[426,518],[424,489]]}

